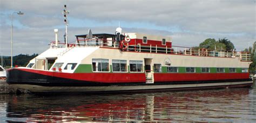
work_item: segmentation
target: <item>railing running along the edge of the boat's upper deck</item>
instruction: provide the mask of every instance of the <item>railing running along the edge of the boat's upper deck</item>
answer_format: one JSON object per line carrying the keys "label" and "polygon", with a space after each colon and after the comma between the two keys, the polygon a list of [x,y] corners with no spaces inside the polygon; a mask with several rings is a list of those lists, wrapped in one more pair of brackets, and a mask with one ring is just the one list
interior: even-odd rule
{"label": "railing running along the edge of the boat's upper deck", "polygon": [[[161,54],[177,54],[177,55],[193,55],[193,56],[212,56],[212,57],[240,57],[241,61],[252,61],[252,56],[249,52],[235,52],[224,50],[208,50],[208,49],[194,49],[191,47],[159,47],[157,45],[126,45],[127,52],[148,52],[148,53],[161,53]],[[51,42],[51,47],[56,47],[55,41]],[[58,43],[58,47],[65,47],[64,43]],[[77,40],[76,44],[68,44],[68,47],[111,47],[119,48],[119,43],[113,40],[105,39],[82,39]]]}

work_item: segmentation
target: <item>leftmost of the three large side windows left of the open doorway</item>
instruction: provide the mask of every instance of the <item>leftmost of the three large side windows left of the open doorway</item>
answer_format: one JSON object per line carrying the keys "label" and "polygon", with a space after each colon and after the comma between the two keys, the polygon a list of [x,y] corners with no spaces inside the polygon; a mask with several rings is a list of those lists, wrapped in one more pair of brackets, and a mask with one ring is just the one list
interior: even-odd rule
{"label": "leftmost of the three large side windows left of the open doorway", "polygon": [[92,71],[109,71],[109,60],[92,59]]}

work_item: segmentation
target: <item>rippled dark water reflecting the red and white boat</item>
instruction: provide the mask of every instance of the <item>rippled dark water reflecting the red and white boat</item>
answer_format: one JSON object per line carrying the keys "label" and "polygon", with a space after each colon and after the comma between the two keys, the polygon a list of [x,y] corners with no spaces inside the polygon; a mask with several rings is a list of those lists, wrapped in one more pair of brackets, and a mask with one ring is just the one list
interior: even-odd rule
{"label": "rippled dark water reflecting the red and white boat", "polygon": [[0,122],[256,122],[256,88],[97,95],[0,95]]}

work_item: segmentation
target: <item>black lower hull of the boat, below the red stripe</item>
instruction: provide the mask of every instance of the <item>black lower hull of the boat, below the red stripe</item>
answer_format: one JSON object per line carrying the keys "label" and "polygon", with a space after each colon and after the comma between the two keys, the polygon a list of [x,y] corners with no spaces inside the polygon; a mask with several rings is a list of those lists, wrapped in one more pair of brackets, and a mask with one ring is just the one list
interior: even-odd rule
{"label": "black lower hull of the boat, below the red stripe", "polygon": [[[126,90],[123,88],[120,88],[120,91],[138,91],[142,89],[145,90],[188,90],[188,89],[214,89],[214,88],[226,88],[230,86],[230,88],[234,87],[244,87],[244,86],[251,86],[252,85],[252,79],[228,79],[228,80],[219,80],[219,81],[186,81],[186,82],[154,82],[153,84],[147,84],[145,82],[133,82],[133,83],[103,83],[103,82],[90,82],[90,81],[79,81],[76,79],[68,79],[68,78],[62,78],[62,77],[55,77],[55,76],[49,76],[49,75],[42,75],[37,73],[31,73],[28,71],[23,71],[19,69],[9,69],[7,72],[7,79],[6,82],[11,85],[15,85],[18,88],[22,89],[29,89],[26,88],[26,86],[33,86],[33,88],[39,88],[39,87],[51,87],[53,90],[56,91],[58,87],[62,88],[60,91],[64,91],[63,89],[69,89],[69,88],[76,88],[80,87],[79,90],[83,90],[83,87],[85,89],[88,89],[89,87],[92,88],[103,88],[103,91],[118,91],[116,89],[110,89],[109,87],[112,86],[113,88],[115,86],[127,86],[130,88],[130,90]],[[238,83],[240,82],[240,83]],[[245,82],[245,83],[241,83]],[[250,82],[250,83],[248,83]],[[217,83],[217,84],[216,84]],[[219,84],[218,84],[219,83]],[[234,85],[223,85],[223,83],[234,83]],[[237,83],[237,84],[235,84]],[[200,84],[201,86],[193,86],[195,84]],[[156,88],[147,88],[147,86],[156,86]],[[170,88],[166,87],[163,88],[161,86],[168,85]],[[172,86],[180,85],[179,88],[175,88]],[[186,85],[186,86],[184,86]],[[209,85],[209,86],[207,86]],[[36,86],[36,87],[35,87]],[[134,90],[131,88],[133,86]],[[157,87],[158,86],[158,87]],[[58,89],[57,89],[58,90]],[[96,89],[97,90],[97,89]],[[36,90],[37,91],[37,90]],[[36,92],[34,91],[34,92]],[[40,90],[38,90],[40,91]],[[50,91],[50,90],[48,90]],[[69,90],[66,90],[69,91]],[[87,90],[86,90],[87,91]],[[89,90],[90,91],[90,90]],[[93,91],[93,90],[92,90]],[[100,90],[98,90],[100,91]]]}

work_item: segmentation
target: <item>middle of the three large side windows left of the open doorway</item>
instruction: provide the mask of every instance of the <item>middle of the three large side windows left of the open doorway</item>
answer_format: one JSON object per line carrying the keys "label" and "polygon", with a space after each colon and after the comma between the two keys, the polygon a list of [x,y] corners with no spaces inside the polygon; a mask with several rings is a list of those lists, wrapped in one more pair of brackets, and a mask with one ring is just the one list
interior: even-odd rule
{"label": "middle of the three large side windows left of the open doorway", "polygon": [[114,72],[126,72],[126,66],[126,60],[112,60],[112,68]]}

